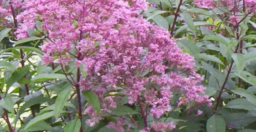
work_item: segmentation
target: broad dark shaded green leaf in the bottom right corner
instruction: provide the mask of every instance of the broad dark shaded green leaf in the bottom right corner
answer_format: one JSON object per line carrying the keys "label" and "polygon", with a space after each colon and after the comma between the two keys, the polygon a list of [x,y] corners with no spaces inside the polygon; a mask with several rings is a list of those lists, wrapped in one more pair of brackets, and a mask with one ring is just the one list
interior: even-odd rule
{"label": "broad dark shaded green leaf in the bottom right corner", "polygon": [[256,121],[256,116],[247,113],[228,113],[223,118],[230,128],[242,128]]}

